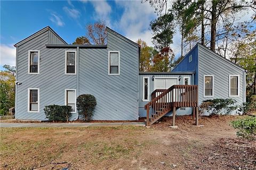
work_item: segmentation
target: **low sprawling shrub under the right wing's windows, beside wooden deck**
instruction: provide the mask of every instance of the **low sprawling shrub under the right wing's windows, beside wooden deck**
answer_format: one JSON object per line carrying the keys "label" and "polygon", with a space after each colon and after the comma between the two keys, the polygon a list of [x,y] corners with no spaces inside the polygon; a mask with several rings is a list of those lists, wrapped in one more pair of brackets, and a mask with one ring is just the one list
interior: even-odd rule
{"label": "low sprawling shrub under the right wing's windows, beside wooden deck", "polygon": [[199,108],[201,112],[209,112],[210,116],[218,114],[228,114],[230,111],[233,111],[237,108],[237,106],[234,106],[235,103],[236,100],[230,98],[204,100]]}

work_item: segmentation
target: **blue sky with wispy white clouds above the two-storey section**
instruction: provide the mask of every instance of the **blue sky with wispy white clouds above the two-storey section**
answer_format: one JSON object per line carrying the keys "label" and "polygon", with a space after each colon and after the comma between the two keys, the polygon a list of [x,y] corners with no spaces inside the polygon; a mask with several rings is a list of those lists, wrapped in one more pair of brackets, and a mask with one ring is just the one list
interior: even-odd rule
{"label": "blue sky with wispy white clouds above the two-storey section", "polygon": [[105,21],[107,26],[136,41],[151,43],[154,8],[141,1],[0,1],[1,61],[15,65],[13,44],[49,25],[67,43],[85,35],[85,25]]}

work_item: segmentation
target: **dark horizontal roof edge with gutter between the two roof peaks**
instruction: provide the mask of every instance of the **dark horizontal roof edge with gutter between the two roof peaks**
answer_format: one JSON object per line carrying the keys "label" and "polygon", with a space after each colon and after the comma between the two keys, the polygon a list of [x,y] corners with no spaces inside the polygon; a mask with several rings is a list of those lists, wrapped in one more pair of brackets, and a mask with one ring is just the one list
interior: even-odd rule
{"label": "dark horizontal roof edge with gutter between the two roof peaks", "polygon": [[46,44],[47,48],[107,48],[107,45]]}

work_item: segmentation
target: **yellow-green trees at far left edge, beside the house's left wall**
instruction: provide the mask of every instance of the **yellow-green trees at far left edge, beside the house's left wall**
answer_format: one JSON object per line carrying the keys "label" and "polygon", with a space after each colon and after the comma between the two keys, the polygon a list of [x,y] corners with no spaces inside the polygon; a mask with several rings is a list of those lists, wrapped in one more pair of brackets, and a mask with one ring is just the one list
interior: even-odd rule
{"label": "yellow-green trees at far left edge, beside the house's left wall", "polygon": [[6,115],[15,105],[15,67],[3,66],[0,71],[0,115]]}

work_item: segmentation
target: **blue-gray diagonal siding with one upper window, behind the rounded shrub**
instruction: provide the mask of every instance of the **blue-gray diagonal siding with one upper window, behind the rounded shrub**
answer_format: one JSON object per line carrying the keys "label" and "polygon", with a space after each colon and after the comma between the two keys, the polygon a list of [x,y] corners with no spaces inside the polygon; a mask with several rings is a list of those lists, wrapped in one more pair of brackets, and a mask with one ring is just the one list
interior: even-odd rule
{"label": "blue-gray diagonal siding with one upper window, behind the rounded shrub", "polygon": [[[137,120],[138,47],[107,33],[107,49],[79,50],[79,94],[96,97],[94,120]],[[108,75],[109,50],[120,51],[120,75]]]}

